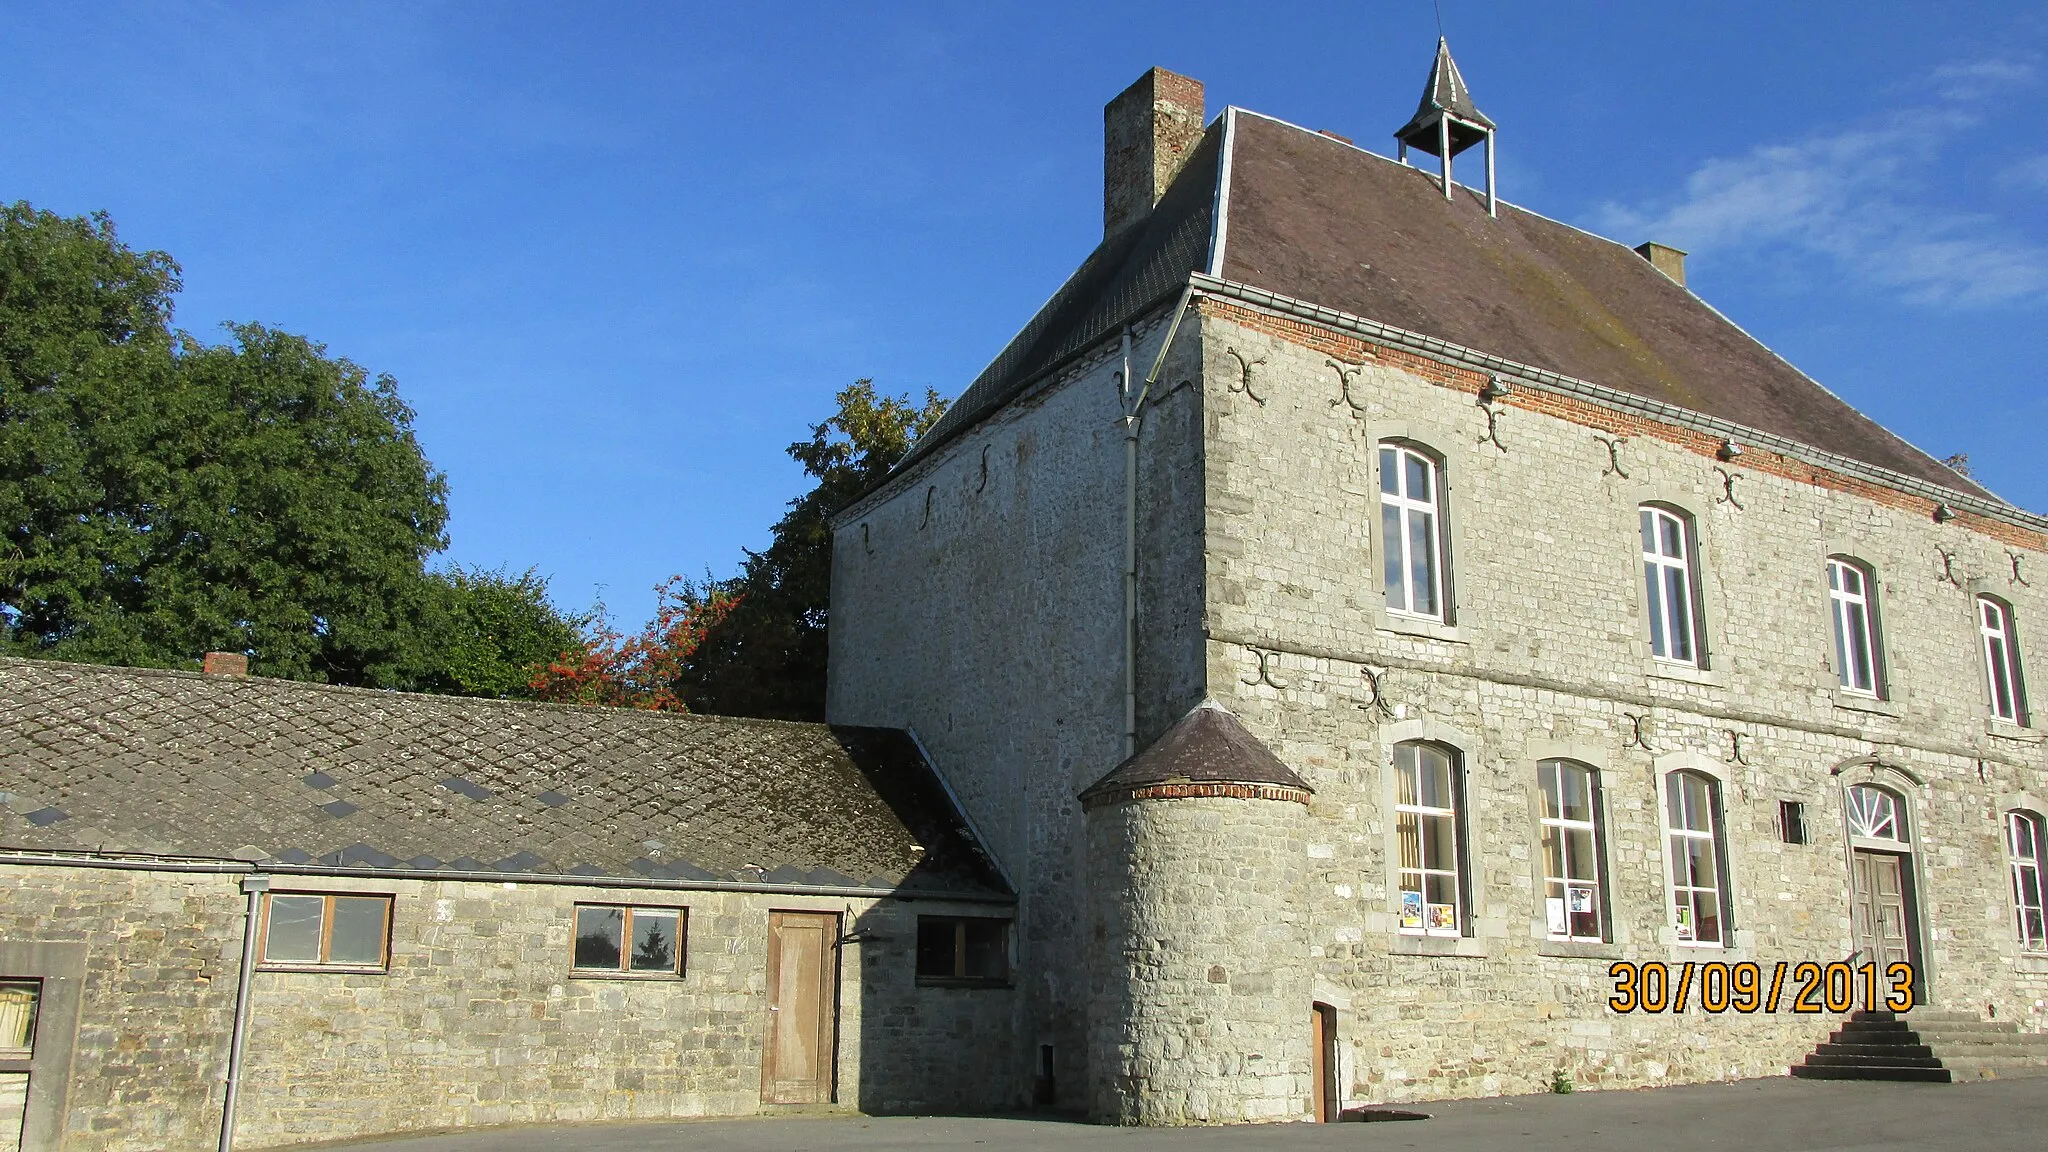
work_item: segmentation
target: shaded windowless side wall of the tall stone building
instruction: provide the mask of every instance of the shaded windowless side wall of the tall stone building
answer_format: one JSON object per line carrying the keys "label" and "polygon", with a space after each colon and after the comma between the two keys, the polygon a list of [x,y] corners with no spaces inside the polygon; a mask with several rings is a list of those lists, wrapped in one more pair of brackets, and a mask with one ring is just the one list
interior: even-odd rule
{"label": "shaded windowless side wall of the tall stone building", "polygon": [[[1135,375],[1163,332],[1163,316],[1139,332]],[[1118,342],[1098,346],[834,533],[827,717],[915,730],[1020,888],[1018,1066],[1051,1047],[1071,1109],[1087,1107],[1073,797],[1124,758],[1120,371]],[[1141,742],[1202,691],[1198,375],[1184,328],[1141,435]]]}

